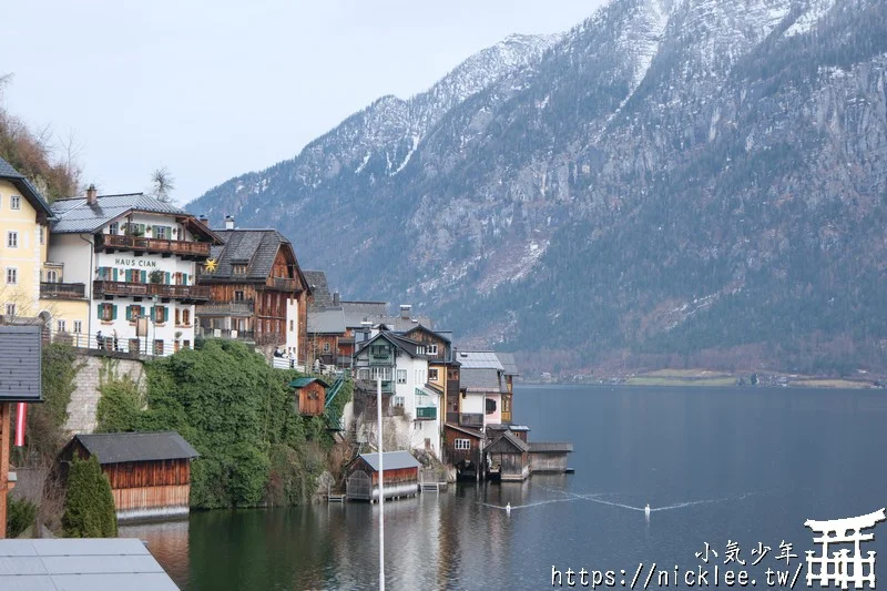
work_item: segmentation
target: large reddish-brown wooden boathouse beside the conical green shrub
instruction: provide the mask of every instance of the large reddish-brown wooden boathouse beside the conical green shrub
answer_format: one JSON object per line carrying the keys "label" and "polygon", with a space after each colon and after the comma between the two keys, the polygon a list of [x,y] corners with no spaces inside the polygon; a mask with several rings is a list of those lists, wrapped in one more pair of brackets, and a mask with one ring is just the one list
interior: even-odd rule
{"label": "large reddish-brown wooden boathouse beside the conical green shrub", "polygon": [[60,455],[64,476],[74,454],[99,458],[119,521],[187,516],[191,460],[198,454],[177,432],[77,435]]}

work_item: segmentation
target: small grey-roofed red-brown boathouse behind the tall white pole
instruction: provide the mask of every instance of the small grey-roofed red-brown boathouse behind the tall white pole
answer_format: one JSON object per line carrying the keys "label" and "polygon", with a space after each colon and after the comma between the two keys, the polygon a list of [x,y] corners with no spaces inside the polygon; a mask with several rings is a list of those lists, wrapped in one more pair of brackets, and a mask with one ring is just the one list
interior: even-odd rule
{"label": "small grey-roofed red-brown boathouse behind the tall white pole", "polygon": [[[385,498],[415,497],[419,490],[419,467],[409,451],[386,451]],[[345,489],[348,500],[376,502],[379,500],[379,455],[360,454],[346,468]]]}

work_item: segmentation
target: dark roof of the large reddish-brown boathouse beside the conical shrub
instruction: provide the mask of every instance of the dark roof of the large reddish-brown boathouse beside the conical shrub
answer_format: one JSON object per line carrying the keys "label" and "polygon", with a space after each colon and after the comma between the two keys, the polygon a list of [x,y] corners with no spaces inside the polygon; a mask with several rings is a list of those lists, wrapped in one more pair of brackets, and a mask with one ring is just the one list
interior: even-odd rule
{"label": "dark roof of the large reddish-brown boathouse beside the conical shrub", "polygon": [[191,444],[175,431],[116,432],[77,435],[79,441],[99,462],[181,460],[200,456]]}

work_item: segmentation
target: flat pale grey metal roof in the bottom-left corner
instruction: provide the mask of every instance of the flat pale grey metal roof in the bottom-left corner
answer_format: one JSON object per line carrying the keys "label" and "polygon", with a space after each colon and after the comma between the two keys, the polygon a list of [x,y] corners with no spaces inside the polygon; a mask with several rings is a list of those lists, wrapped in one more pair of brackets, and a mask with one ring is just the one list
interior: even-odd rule
{"label": "flat pale grey metal roof in the bottom-left corner", "polygon": [[140,540],[60,538],[0,541],[0,589],[167,591],[179,588]]}

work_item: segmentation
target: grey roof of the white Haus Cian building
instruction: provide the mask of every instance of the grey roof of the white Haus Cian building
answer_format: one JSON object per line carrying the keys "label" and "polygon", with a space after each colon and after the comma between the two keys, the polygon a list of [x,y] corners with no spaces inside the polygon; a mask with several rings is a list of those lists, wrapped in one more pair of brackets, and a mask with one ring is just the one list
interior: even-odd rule
{"label": "grey roof of the white Haus Cian building", "polygon": [[54,234],[92,234],[130,212],[193,217],[186,211],[144,193],[99,195],[95,198],[95,205],[86,203],[86,197],[74,197],[59,200],[52,204],[52,214],[55,216],[52,232]]}

